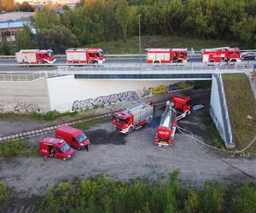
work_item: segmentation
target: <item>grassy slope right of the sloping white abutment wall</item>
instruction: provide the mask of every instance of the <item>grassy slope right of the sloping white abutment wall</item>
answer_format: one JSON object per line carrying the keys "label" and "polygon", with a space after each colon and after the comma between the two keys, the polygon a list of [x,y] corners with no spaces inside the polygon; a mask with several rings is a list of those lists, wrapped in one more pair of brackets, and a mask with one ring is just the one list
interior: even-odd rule
{"label": "grassy slope right of the sloping white abutment wall", "polygon": [[[253,90],[246,74],[224,74],[223,79],[232,133],[237,148],[241,150],[256,136],[256,103]],[[248,152],[256,153],[256,143]]]}

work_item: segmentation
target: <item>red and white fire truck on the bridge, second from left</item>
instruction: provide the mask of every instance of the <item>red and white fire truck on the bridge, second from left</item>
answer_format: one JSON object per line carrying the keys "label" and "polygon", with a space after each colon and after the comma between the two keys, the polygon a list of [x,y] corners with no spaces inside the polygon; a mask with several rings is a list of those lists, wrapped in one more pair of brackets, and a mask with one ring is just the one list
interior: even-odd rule
{"label": "red and white fire truck on the bridge, second from left", "polygon": [[68,64],[102,64],[103,58],[102,49],[84,48],[84,49],[67,49]]}

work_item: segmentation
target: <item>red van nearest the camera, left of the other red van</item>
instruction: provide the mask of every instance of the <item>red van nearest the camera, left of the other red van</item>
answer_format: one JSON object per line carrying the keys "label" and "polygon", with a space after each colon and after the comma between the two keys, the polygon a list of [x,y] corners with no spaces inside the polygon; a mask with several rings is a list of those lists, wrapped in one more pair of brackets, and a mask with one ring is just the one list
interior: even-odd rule
{"label": "red van nearest the camera, left of the other red van", "polygon": [[39,142],[40,153],[45,157],[61,158],[67,160],[73,156],[73,148],[67,142],[58,138],[45,137]]}

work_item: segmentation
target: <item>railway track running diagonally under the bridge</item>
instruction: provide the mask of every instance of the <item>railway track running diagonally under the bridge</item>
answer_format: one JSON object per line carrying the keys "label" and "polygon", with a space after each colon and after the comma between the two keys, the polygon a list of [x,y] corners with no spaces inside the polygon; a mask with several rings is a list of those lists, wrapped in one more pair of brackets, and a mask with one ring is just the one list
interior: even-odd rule
{"label": "railway track running diagonally under the bridge", "polygon": [[[189,95],[189,96],[192,99],[195,98],[195,100],[196,100],[198,97],[207,96],[207,95],[210,95],[210,90],[207,92],[201,93],[200,95],[196,94],[196,95]],[[153,104],[154,104],[155,109],[160,109],[160,107],[164,107],[166,105],[166,101],[155,101],[155,102],[153,102]],[[119,110],[113,111],[113,112],[118,112],[120,110],[123,110],[123,109],[120,108]],[[17,141],[20,139],[24,139],[24,138],[36,136],[36,135],[43,135],[43,134],[54,131],[56,128],[60,127],[61,125],[74,125],[74,124],[81,124],[81,123],[89,123],[89,122],[99,121],[104,118],[110,118],[111,114],[113,112],[102,113],[100,115],[90,116],[88,118],[78,118],[78,119],[63,122],[60,124],[49,125],[44,128],[39,128],[39,129],[35,129],[35,130],[28,130],[28,131],[23,131],[23,132],[16,133],[16,134],[4,135],[4,136],[0,137],[0,143],[6,142],[6,141]]]}

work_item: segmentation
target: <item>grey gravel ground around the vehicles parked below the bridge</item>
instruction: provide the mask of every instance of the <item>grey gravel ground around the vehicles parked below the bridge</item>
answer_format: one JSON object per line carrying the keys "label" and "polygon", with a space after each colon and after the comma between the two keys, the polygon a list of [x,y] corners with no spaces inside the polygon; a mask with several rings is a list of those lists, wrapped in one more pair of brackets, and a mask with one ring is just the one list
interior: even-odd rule
{"label": "grey gravel ground around the vehicles parked below the bridge", "polygon": [[[181,181],[196,185],[211,180],[247,179],[247,176],[229,164],[224,164],[212,153],[198,147],[186,135],[177,133],[172,148],[155,147],[154,134],[159,122],[160,116],[154,118],[152,124],[131,135],[114,132],[110,123],[100,124],[86,132],[92,142],[89,152],[77,151],[67,162],[40,157],[2,160],[0,179],[6,181],[19,198],[42,195],[49,185],[61,180],[96,174],[120,180],[136,177],[154,180],[166,178],[169,172],[179,169]],[[256,158],[225,158],[225,161],[256,176]]]}

